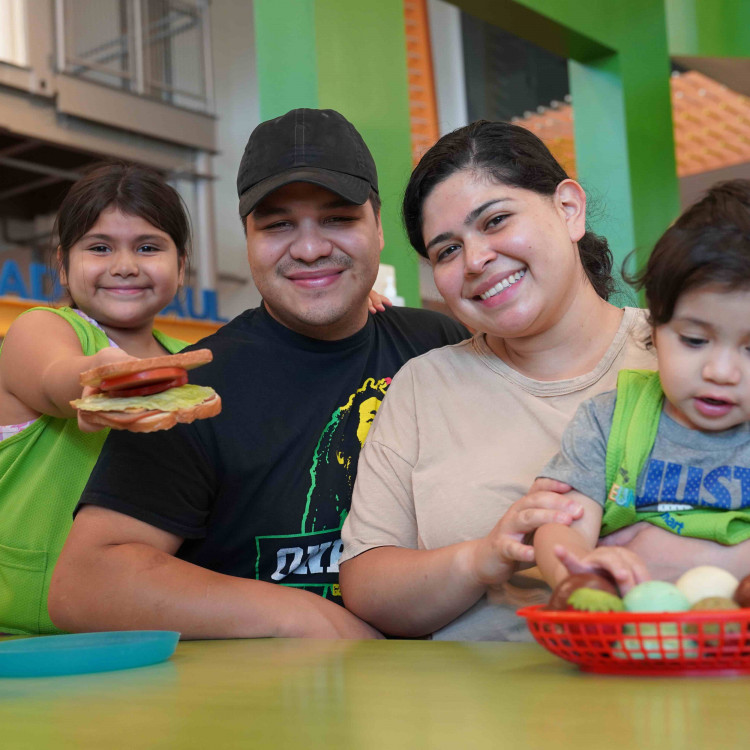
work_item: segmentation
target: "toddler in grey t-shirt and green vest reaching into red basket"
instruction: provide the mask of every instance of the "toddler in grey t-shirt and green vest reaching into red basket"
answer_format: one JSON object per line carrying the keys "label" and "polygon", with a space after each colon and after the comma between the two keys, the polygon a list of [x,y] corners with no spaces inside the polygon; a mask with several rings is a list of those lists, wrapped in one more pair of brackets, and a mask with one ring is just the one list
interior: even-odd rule
{"label": "toddler in grey t-shirt and green vest reaching into red basket", "polygon": [[623,593],[647,580],[638,555],[596,546],[642,521],[717,545],[717,560],[718,545],[740,545],[732,559],[750,572],[750,181],[716,186],[680,217],[637,285],[659,372],[623,370],[616,391],[581,404],[541,472],[584,507],[536,532],[551,585],[594,569]]}

